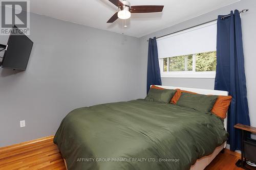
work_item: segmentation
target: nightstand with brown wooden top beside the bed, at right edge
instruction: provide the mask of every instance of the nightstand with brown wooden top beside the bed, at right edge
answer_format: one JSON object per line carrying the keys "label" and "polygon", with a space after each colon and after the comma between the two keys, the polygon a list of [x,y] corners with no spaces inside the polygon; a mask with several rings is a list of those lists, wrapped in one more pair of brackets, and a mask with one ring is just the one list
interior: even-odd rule
{"label": "nightstand with brown wooden top beside the bed, at right edge", "polygon": [[234,128],[241,129],[241,159],[236,165],[244,169],[249,169],[246,165],[246,160],[256,162],[256,140],[246,137],[248,132],[256,133],[256,128],[247,125],[237,124]]}

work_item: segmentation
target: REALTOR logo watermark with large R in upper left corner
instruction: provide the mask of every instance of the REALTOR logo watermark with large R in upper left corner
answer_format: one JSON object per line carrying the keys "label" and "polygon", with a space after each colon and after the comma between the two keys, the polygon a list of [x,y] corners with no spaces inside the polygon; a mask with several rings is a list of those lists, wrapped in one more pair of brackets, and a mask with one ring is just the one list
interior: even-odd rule
{"label": "REALTOR logo watermark with large R in upper left corner", "polygon": [[[1,35],[10,35],[15,25],[19,34],[30,34],[30,2],[29,1],[1,1]],[[17,32],[16,32],[17,33]],[[13,32],[13,34],[16,34]],[[19,35],[17,34],[17,35]]]}

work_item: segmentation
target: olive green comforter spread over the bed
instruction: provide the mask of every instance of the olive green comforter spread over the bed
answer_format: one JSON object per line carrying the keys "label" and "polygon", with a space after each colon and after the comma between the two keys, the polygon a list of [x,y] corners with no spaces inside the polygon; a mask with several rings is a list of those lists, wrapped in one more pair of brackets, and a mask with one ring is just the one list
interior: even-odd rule
{"label": "olive green comforter spread over the bed", "polygon": [[69,170],[163,170],[189,169],[227,137],[212,113],[134,100],[73,110],[54,143]]}

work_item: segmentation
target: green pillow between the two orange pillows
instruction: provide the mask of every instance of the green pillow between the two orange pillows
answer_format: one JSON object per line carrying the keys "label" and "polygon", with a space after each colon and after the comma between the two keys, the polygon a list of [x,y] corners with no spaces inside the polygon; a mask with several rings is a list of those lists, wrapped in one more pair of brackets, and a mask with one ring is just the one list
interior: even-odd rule
{"label": "green pillow between the two orange pillows", "polygon": [[178,106],[189,107],[202,112],[210,112],[218,98],[218,95],[191,94],[182,92],[178,100]]}

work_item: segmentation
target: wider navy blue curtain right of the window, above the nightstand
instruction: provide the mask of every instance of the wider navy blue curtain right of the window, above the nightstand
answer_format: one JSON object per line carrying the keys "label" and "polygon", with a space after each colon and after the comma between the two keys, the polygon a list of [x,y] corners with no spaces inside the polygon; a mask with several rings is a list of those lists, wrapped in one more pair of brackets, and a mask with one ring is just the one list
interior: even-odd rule
{"label": "wider navy blue curtain right of the window, above the nightstand", "polygon": [[241,18],[238,10],[231,11],[230,17],[217,22],[217,70],[215,89],[225,90],[232,96],[228,111],[230,150],[241,150],[241,132],[233,126],[240,123],[250,125]]}

